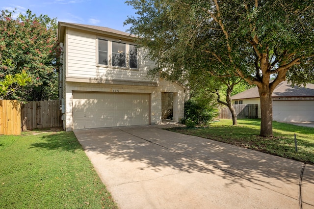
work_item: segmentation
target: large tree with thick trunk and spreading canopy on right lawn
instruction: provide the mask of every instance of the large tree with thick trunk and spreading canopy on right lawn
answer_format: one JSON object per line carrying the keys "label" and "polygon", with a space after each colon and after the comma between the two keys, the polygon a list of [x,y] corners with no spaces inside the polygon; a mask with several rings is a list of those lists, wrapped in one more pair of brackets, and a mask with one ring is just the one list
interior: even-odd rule
{"label": "large tree with thick trunk and spreading canopy on right lawn", "polygon": [[129,0],[130,32],[157,61],[155,72],[193,68],[257,85],[261,135],[272,136],[272,100],[283,80],[314,79],[312,0]]}

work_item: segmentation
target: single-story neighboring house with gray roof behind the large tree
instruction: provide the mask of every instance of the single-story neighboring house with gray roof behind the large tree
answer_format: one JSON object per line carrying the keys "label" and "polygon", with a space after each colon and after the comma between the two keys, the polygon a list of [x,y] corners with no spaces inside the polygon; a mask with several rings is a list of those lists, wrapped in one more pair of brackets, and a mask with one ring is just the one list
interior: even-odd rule
{"label": "single-story neighboring house with gray roof behind the large tree", "polygon": [[[251,88],[231,97],[235,104],[259,104],[258,88]],[[281,82],[272,94],[274,121],[314,121],[314,84],[306,87],[291,87],[287,81]]]}

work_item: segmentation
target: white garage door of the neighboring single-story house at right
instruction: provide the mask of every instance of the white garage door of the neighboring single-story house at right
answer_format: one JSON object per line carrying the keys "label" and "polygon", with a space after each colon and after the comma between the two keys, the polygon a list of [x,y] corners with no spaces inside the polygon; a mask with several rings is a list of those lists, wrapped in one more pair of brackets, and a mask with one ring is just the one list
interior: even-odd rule
{"label": "white garage door of the neighboring single-story house at right", "polygon": [[314,121],[314,101],[273,101],[275,121]]}

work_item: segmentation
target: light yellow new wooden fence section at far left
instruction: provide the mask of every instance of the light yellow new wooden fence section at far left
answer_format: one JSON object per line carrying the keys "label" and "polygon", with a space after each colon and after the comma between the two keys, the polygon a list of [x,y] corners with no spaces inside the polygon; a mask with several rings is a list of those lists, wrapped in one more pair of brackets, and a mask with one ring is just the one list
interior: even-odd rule
{"label": "light yellow new wooden fence section at far left", "polygon": [[0,135],[21,134],[21,105],[16,100],[0,100]]}

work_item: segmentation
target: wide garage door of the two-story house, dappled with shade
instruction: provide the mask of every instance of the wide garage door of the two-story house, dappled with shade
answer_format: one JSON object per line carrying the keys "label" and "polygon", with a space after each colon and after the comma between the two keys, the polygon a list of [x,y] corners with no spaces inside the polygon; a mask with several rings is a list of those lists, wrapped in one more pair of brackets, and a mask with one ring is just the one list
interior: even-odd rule
{"label": "wide garage door of the two-story house, dappled with shade", "polygon": [[73,127],[149,124],[149,94],[73,92]]}

